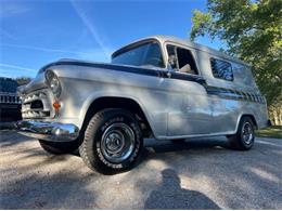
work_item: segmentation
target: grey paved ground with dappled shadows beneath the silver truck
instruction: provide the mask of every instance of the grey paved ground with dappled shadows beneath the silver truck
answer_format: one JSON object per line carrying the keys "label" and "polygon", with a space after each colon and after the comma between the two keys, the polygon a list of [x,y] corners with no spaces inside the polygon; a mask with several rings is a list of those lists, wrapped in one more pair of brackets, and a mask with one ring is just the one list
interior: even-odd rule
{"label": "grey paved ground with dappled shadows beneath the silver truck", "polygon": [[225,148],[223,137],[148,140],[136,169],[108,176],[78,155],[0,135],[0,209],[282,209],[282,140],[257,139],[251,151]]}

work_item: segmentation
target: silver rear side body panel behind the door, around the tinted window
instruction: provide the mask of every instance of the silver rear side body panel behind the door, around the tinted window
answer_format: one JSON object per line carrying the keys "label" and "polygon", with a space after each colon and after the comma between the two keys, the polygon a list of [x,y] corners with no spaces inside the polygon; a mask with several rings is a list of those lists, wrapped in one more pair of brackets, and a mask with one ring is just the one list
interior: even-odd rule
{"label": "silver rear side body panel behind the door, around the tinted window", "polygon": [[[201,70],[206,79],[207,85],[223,88],[238,91],[244,97],[241,100],[232,100],[218,95],[210,95],[213,105],[213,116],[215,118],[215,130],[225,133],[235,133],[240,119],[243,115],[251,115],[255,118],[257,127],[267,126],[268,114],[266,102],[255,102],[252,95],[260,95],[259,89],[255,83],[254,77],[249,68],[234,61],[226,60],[209,53],[201,52],[197,56],[202,62]],[[213,76],[210,67],[210,58],[218,58],[231,63],[234,80],[227,81]],[[261,96],[262,97],[262,96]],[[264,97],[262,97],[264,98]]]}

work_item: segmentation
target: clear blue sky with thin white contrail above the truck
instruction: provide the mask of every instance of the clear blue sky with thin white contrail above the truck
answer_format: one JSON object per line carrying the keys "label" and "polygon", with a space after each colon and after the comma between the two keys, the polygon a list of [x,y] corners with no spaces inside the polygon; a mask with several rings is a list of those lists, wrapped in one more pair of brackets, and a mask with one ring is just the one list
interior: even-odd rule
{"label": "clear blue sky with thin white contrail above the truck", "polygon": [[152,35],[189,39],[195,9],[205,11],[206,0],[0,0],[0,77],[33,78],[60,58],[110,62]]}

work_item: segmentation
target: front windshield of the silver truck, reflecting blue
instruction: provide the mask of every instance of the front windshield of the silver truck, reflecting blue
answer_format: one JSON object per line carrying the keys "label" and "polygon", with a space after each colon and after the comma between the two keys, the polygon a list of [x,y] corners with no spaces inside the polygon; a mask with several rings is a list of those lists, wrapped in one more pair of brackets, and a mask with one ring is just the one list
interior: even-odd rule
{"label": "front windshield of the silver truck, reflecting blue", "polygon": [[164,67],[161,48],[157,42],[149,42],[117,53],[113,64]]}

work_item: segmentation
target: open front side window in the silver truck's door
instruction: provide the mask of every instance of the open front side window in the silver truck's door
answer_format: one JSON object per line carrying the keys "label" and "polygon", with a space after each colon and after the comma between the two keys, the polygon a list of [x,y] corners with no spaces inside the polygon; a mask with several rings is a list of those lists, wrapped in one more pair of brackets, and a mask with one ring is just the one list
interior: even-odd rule
{"label": "open front side window in the silver truck's door", "polygon": [[197,68],[192,53],[182,48],[167,45],[169,64],[180,72],[197,75]]}

